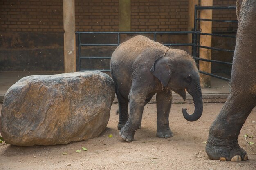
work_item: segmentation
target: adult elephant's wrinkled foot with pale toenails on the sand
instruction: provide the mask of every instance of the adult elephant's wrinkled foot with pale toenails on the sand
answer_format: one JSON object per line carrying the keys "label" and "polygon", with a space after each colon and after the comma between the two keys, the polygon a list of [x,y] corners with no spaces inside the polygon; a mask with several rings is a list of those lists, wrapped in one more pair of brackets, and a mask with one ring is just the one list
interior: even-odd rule
{"label": "adult elephant's wrinkled foot with pale toenails on the sand", "polygon": [[220,161],[246,161],[248,156],[245,150],[243,150],[237,140],[217,139],[212,135],[209,135],[206,144],[206,153],[210,159]]}

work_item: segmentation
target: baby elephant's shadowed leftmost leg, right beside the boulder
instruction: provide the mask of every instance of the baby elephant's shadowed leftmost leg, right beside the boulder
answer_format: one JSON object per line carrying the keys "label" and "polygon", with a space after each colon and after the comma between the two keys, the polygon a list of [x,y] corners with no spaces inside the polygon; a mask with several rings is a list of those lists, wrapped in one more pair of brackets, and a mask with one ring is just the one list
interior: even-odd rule
{"label": "baby elephant's shadowed leftmost leg, right beside the boulder", "polygon": [[124,127],[126,124],[129,113],[128,113],[128,99],[123,97],[121,93],[116,89],[116,94],[117,94],[117,100],[118,100],[118,109],[119,109],[119,121],[117,128],[118,130],[121,130],[121,128]]}

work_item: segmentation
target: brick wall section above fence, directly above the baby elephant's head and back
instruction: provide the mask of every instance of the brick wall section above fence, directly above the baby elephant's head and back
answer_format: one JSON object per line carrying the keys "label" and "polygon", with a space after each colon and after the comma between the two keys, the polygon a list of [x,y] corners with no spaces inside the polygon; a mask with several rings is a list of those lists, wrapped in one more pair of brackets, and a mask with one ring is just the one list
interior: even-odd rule
{"label": "brick wall section above fence, directly above the baby elephant's head and back", "polygon": [[131,0],[132,31],[186,31],[188,0]]}

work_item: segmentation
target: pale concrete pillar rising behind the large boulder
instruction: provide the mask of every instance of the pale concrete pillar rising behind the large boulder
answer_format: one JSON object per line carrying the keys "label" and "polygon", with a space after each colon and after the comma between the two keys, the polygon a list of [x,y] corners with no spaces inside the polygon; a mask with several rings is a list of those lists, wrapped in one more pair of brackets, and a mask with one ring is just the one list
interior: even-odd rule
{"label": "pale concrete pillar rising behind the large boulder", "polygon": [[75,0],[63,0],[64,71],[76,71]]}

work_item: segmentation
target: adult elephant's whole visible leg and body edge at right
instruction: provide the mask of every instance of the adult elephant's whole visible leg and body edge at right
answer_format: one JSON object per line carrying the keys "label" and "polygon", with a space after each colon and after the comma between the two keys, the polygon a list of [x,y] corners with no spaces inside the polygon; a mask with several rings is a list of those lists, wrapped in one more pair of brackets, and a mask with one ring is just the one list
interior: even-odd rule
{"label": "adult elephant's whole visible leg and body edge at right", "polygon": [[231,73],[231,91],[211,125],[206,145],[211,159],[247,160],[238,135],[256,106],[256,1],[237,1],[238,31]]}

